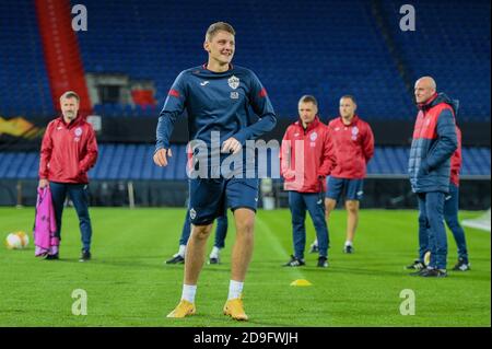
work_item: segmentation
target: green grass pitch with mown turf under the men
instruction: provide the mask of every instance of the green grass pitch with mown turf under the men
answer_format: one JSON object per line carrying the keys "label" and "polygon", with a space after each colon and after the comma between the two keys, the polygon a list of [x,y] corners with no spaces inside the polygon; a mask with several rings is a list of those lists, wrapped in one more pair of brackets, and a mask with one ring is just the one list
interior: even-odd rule
{"label": "green grass pitch with mown turf under the men", "polygon": [[[408,276],[417,253],[417,211],[362,210],[355,254],[344,255],[345,212],[329,224],[330,266],[281,267],[292,252],[290,212],[259,211],[255,253],[244,302],[250,321],[222,315],[235,237],[230,217],[222,264],[206,265],[197,291],[197,314],[165,315],[177,304],[183,265],[163,261],[177,251],[184,209],[92,208],[93,260],[79,263],[80,233],[73,209],[65,211],[60,260],[34,257],[33,208],[0,208],[0,233],[30,233],[27,249],[0,246],[0,326],[491,326],[490,233],[466,228],[472,270],[445,279]],[[480,213],[460,212],[460,218]],[[211,236],[212,237],[212,236]],[[307,219],[307,246],[314,229]],[[209,248],[213,239],[209,240]],[[448,267],[456,245],[448,234]],[[306,247],[307,248],[307,247]],[[292,287],[307,279],[312,287]],[[72,291],[87,294],[87,315],[72,314]],[[400,292],[415,295],[415,315],[400,314]]]}

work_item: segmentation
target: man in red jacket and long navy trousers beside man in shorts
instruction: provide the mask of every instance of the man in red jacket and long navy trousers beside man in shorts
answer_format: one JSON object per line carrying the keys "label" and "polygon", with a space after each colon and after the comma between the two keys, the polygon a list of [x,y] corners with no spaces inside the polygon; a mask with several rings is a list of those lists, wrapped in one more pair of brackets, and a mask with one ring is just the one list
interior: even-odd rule
{"label": "man in red jacket and long navy trousers beside man in shorts", "polygon": [[329,129],[319,120],[317,106],[314,96],[301,97],[300,118],[285,130],[280,151],[281,175],[284,189],[289,190],[294,240],[294,254],[285,264],[289,267],[305,265],[306,210],[319,242],[317,265],[328,267],[329,237],[323,196],[326,191],[325,178],[335,165],[335,158]]}

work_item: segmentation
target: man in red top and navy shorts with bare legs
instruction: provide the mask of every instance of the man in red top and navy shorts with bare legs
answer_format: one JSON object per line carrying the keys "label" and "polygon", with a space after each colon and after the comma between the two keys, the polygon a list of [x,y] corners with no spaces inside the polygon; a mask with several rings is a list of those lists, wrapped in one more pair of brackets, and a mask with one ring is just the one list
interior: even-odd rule
{"label": "man in red top and navy shorts with bare legs", "polygon": [[[326,193],[326,219],[336,208],[342,194],[347,208],[347,239],[343,246],[344,253],[353,253],[353,239],[359,223],[360,201],[363,197],[363,183],[366,166],[374,154],[374,135],[367,123],[362,120],[355,110],[358,105],[351,95],[340,98],[340,117],[328,124],[330,128],[337,166],[328,178]],[[311,251],[317,249],[315,241]]]}

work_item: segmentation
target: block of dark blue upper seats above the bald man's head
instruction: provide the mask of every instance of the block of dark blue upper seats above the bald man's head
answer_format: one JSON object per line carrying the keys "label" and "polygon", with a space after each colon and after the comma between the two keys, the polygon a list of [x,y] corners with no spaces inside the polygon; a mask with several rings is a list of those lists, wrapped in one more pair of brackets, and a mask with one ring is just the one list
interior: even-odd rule
{"label": "block of dark blue upper seats above the bald man's head", "polygon": [[[400,19],[401,3],[384,1],[388,19]],[[460,101],[460,118],[490,120],[490,1],[419,1],[415,31],[391,34],[413,77],[432,75],[449,96]]]}

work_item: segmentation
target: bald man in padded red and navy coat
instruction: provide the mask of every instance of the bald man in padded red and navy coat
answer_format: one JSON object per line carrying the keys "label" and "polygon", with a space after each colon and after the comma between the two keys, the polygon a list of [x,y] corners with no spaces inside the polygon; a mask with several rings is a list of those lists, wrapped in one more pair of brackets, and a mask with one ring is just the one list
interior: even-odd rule
{"label": "bald man in padded red and navy coat", "polygon": [[[419,240],[429,239],[431,261],[413,275],[445,277],[447,239],[444,198],[449,191],[450,158],[458,147],[455,127],[458,102],[449,100],[444,93],[437,94],[435,81],[430,77],[415,82],[414,94],[419,114],[408,171],[412,190],[419,200]],[[420,257],[423,258],[422,253]]]}

